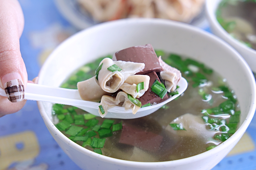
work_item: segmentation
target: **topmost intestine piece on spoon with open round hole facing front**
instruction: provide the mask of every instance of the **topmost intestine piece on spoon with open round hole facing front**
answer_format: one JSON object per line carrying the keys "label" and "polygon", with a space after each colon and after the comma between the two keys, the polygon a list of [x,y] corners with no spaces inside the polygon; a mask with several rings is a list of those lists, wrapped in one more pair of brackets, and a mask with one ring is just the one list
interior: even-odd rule
{"label": "topmost intestine piece on spoon with open round hole facing front", "polygon": [[[103,64],[102,64],[103,63]],[[136,74],[144,69],[144,63],[113,61],[110,58],[105,58],[101,61],[101,70],[99,71],[98,81],[102,90],[114,93],[119,90],[124,81],[131,75]],[[109,71],[107,68],[116,64],[121,71]]]}

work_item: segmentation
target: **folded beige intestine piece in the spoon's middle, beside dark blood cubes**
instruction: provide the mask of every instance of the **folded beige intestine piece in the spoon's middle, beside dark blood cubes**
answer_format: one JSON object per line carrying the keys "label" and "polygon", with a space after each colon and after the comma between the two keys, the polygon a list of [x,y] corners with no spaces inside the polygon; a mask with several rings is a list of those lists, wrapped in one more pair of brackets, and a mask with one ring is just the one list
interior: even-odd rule
{"label": "folded beige intestine piece in the spoon's middle, beside dark blood cubes", "polygon": [[[132,75],[124,81],[120,89],[127,94],[131,94],[133,98],[139,98],[148,90],[149,80],[150,77],[147,75]],[[140,82],[144,82],[144,89],[137,92],[137,84]]]}

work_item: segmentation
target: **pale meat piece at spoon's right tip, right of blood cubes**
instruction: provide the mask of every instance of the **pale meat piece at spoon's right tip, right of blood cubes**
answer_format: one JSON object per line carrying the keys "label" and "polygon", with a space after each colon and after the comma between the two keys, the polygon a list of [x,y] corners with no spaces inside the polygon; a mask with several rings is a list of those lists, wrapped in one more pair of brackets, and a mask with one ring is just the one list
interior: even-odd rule
{"label": "pale meat piece at spoon's right tip, right of blood cubes", "polygon": [[168,92],[176,90],[176,86],[181,78],[181,72],[166,64],[161,56],[158,57],[159,63],[162,66],[163,70],[160,72],[161,78],[165,81],[165,86]]}

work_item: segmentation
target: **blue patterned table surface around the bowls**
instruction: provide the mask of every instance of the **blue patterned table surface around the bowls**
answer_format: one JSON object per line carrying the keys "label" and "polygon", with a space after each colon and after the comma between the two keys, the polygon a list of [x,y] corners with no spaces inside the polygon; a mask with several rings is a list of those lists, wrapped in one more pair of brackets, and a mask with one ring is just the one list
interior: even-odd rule
{"label": "blue patterned table surface around the bowls", "polygon": [[[76,28],[61,16],[53,0],[19,0],[24,17],[25,26],[22,37],[20,38],[20,51],[24,59],[28,80],[32,80],[38,75],[40,67],[49,53],[63,40],[77,32]],[[209,31],[209,28],[205,28]],[[29,133],[27,133],[29,132]],[[19,134],[30,134],[35,138],[35,148],[38,153],[27,155],[29,160],[22,157],[19,160],[26,169],[42,170],[78,170],[79,168],[71,159],[61,150],[56,141],[52,138],[44,121],[38,111],[35,101],[27,101],[22,110],[17,113],[6,115],[0,118],[0,150],[1,139],[10,139]],[[254,116],[247,129],[252,143],[256,141],[256,117]],[[32,135],[32,136],[31,136]],[[2,140],[3,142],[3,140]],[[30,141],[31,142],[31,141]],[[2,143],[3,147],[3,143]],[[6,146],[8,148],[9,146]],[[24,146],[21,146],[21,149]],[[19,149],[19,145],[16,145]],[[1,167],[3,155],[0,153],[0,170],[2,169],[22,169],[22,163],[17,162],[16,158],[9,155],[9,162]],[[23,168],[24,169],[24,168]],[[221,169],[256,169],[256,151],[249,150],[225,157],[214,170]]]}

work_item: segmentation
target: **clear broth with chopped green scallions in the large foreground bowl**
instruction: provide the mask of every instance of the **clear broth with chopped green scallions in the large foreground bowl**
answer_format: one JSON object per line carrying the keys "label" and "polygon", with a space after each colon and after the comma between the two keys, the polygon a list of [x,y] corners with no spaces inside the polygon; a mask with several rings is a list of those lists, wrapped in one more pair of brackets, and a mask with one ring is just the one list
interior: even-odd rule
{"label": "clear broth with chopped green scallions in the large foreground bowl", "polygon": [[[194,59],[161,50],[156,54],[187,79],[188,88],[180,97],[136,119],[106,119],[73,106],[54,104],[53,118],[59,119],[55,126],[88,150],[141,162],[190,157],[227,140],[238,127],[240,111],[226,79]],[[103,58],[79,68],[61,87],[77,89],[79,81],[95,76]]]}

